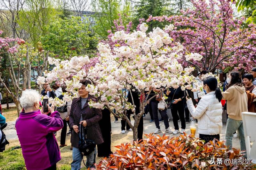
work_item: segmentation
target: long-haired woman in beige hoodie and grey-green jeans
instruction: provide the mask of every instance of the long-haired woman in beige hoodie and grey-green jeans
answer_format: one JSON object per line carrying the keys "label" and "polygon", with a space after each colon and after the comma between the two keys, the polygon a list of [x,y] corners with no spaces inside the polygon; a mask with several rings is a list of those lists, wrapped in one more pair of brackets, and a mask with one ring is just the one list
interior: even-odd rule
{"label": "long-haired woman in beige hoodie and grey-green jeans", "polygon": [[239,72],[234,71],[228,75],[231,79],[228,89],[222,92],[224,100],[227,100],[228,120],[226,126],[226,145],[232,149],[233,133],[238,132],[241,151],[245,151],[244,127],[242,121],[242,112],[247,109],[247,95],[242,85],[242,79]]}

